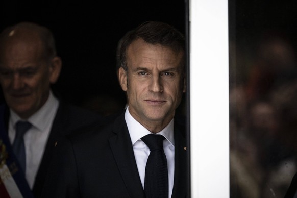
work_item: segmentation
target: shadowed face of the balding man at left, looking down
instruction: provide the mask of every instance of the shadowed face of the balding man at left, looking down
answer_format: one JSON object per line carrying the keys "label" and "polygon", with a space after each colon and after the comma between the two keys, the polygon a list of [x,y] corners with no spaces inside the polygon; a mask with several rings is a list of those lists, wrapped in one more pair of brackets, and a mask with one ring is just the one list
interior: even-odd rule
{"label": "shadowed face of the balding man at left, looking down", "polygon": [[0,84],[8,106],[21,118],[34,114],[47,100],[50,66],[39,42],[13,40],[1,48]]}

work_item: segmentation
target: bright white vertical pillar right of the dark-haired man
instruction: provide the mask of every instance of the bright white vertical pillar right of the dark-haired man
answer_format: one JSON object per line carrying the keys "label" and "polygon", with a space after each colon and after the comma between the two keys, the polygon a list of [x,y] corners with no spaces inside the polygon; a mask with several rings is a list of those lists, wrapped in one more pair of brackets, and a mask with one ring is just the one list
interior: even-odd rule
{"label": "bright white vertical pillar right of the dark-haired man", "polygon": [[191,197],[229,197],[228,0],[190,0]]}

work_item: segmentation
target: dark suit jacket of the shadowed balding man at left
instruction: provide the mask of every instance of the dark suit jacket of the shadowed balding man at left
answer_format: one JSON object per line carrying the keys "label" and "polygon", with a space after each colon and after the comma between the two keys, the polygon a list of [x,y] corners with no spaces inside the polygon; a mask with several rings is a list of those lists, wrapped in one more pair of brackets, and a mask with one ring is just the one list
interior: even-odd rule
{"label": "dark suit jacket of the shadowed balding man at left", "polygon": [[[8,123],[8,108],[6,108],[5,114],[5,122]],[[90,126],[95,122],[100,121],[101,117],[95,113],[60,102],[32,189],[35,198],[38,198],[41,195],[48,166],[50,165],[50,161],[52,159],[55,142],[59,141],[62,137],[70,134],[74,130]]]}

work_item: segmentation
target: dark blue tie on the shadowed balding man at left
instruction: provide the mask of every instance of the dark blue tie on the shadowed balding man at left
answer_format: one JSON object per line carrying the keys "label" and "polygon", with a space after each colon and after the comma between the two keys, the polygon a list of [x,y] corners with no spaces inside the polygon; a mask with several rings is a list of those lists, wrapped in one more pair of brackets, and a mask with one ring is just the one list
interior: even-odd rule
{"label": "dark blue tie on the shadowed balding man at left", "polygon": [[29,123],[28,121],[18,121],[15,125],[16,133],[12,145],[14,154],[16,155],[16,158],[18,159],[21,169],[24,173],[26,172],[26,152],[23,136],[30,129],[31,126],[31,123]]}

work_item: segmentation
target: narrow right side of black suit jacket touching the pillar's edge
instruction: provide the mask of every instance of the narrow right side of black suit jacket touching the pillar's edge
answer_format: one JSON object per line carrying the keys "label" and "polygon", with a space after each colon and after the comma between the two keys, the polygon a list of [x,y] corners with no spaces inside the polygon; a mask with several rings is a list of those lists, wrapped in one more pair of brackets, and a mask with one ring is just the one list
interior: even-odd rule
{"label": "narrow right side of black suit jacket touching the pillar's edge", "polygon": [[175,177],[172,197],[187,197],[189,188],[188,146],[185,139],[185,129],[175,121]]}

